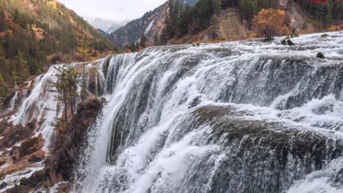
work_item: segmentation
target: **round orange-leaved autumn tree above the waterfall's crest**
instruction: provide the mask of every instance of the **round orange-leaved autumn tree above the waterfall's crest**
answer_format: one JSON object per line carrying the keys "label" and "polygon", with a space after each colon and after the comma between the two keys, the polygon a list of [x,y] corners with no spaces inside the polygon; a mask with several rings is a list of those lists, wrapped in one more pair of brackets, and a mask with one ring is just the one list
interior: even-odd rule
{"label": "round orange-leaved autumn tree above the waterfall's crest", "polygon": [[265,40],[272,40],[274,36],[287,31],[284,10],[262,9],[254,18],[254,28]]}

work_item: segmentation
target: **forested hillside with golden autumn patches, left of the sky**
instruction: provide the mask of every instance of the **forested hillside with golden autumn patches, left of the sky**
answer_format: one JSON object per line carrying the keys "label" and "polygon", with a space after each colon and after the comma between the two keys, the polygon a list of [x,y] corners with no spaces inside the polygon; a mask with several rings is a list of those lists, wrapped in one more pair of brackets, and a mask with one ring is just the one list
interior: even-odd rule
{"label": "forested hillside with golden autumn patches, left of the sky", "polygon": [[[0,1],[0,97],[49,62],[80,60],[79,41],[87,39],[93,57],[113,50],[96,29],[53,0]],[[49,56],[49,57],[48,57]]]}

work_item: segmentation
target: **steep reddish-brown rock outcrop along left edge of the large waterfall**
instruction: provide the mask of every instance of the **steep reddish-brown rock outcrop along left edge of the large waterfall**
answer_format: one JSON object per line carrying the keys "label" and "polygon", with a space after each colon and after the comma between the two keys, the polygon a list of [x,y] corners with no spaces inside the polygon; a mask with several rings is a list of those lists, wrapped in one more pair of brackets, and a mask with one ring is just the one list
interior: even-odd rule
{"label": "steep reddish-brown rock outcrop along left edge of the large waterfall", "polygon": [[46,175],[52,183],[70,181],[73,165],[86,141],[87,129],[102,109],[100,98],[89,98],[81,105],[67,129],[58,129],[55,149],[46,160]]}

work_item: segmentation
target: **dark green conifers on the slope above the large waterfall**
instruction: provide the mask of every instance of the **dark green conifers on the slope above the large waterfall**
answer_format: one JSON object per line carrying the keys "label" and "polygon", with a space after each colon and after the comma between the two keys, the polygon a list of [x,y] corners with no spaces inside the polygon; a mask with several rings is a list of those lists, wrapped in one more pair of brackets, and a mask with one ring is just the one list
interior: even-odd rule
{"label": "dark green conifers on the slope above the large waterfall", "polygon": [[[328,28],[334,21],[343,20],[341,0],[295,0],[320,28]],[[218,28],[221,10],[233,8],[248,29],[254,27],[254,18],[262,9],[276,9],[274,0],[199,0],[195,6],[184,6],[179,0],[168,2],[168,11],[164,16],[164,28],[155,45],[164,45],[168,40],[185,35],[194,35],[203,30]],[[216,37],[216,29],[209,29],[209,35]]]}

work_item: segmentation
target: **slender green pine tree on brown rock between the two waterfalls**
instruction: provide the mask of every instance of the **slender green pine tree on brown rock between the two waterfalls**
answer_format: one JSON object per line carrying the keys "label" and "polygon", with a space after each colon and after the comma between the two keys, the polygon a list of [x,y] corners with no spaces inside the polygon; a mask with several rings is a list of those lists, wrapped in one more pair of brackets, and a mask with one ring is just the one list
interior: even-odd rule
{"label": "slender green pine tree on brown rock between the two waterfalls", "polygon": [[[50,82],[53,89],[48,90],[53,93],[56,100],[61,101],[64,106],[64,121],[68,125],[69,116],[74,115],[74,107],[78,98],[77,82],[79,73],[73,66],[63,65],[60,67],[54,66],[58,71],[55,76],[56,82]],[[69,115],[70,112],[70,115]]]}

